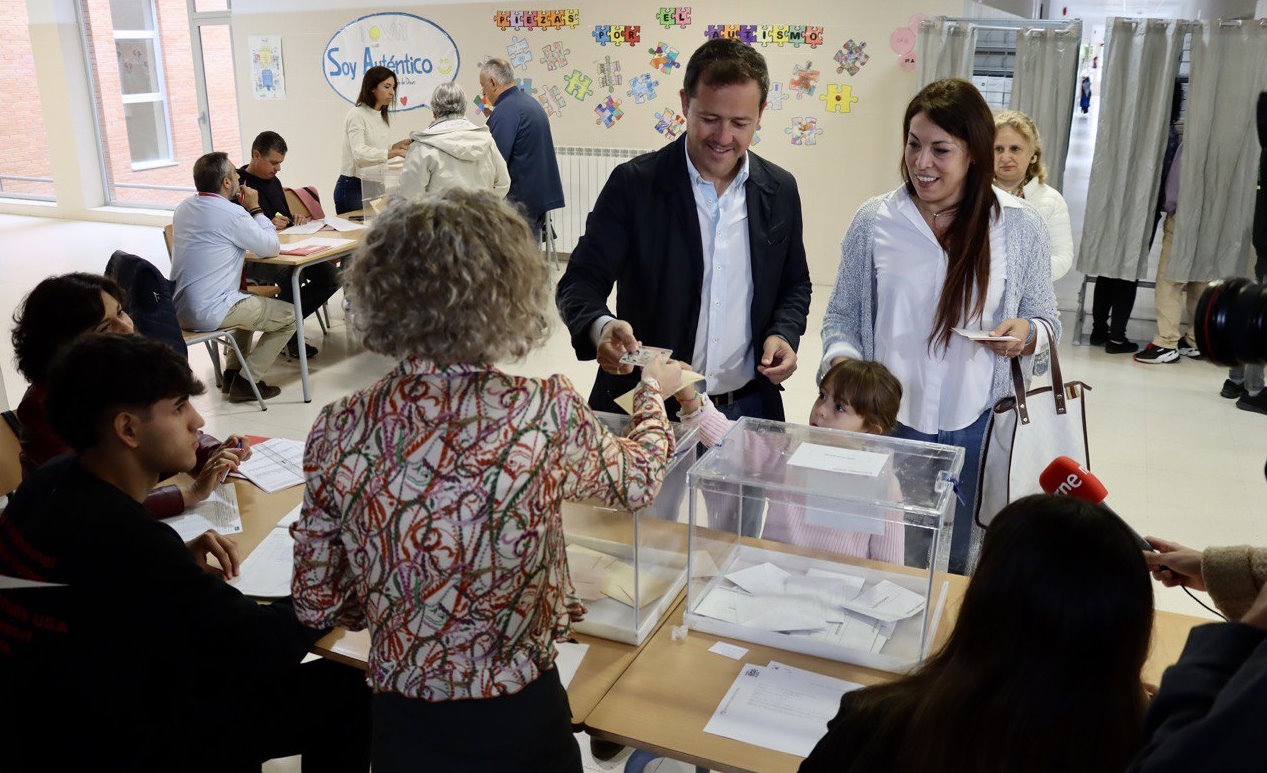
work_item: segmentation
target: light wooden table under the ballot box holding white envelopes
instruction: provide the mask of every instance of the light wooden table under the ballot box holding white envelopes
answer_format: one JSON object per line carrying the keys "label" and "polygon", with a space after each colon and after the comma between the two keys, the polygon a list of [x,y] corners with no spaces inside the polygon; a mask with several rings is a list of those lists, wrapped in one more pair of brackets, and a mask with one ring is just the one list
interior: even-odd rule
{"label": "light wooden table under the ballot box holding white envelopes", "polygon": [[[952,583],[952,598],[935,635],[940,644],[949,635],[958,615],[964,582]],[[587,730],[598,738],[646,749],[661,757],[679,759],[699,769],[727,773],[778,773],[796,770],[801,758],[794,754],[754,746],[704,732],[718,703],[745,663],[765,665],[778,660],[820,674],[877,684],[895,674],[835,660],[761,646],[735,639],[722,639],[691,631],[684,641],[673,641],[672,626],[680,625],[685,602],[669,613],[647,640],[611,691],[585,719]],[[1153,651],[1144,667],[1144,680],[1157,684],[1167,665],[1178,659],[1195,625],[1210,622],[1199,617],[1158,612],[1153,625]],[[746,648],[740,660],[710,653],[717,641]]]}

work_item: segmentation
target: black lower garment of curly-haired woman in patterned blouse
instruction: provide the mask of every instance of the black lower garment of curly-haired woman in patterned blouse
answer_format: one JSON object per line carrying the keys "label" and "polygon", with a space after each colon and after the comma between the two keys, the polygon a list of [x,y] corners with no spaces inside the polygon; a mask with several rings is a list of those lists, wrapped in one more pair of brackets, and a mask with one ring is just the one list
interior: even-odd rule
{"label": "black lower garment of curly-haired woman in patterned blouse", "polygon": [[374,696],[374,773],[582,773],[568,692],[550,669],[519,692],[430,703]]}

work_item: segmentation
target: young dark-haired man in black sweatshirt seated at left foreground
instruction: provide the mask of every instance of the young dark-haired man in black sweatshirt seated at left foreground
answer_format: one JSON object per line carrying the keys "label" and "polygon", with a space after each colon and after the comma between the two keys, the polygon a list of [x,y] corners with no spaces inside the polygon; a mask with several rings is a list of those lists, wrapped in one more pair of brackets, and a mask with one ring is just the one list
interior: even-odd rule
{"label": "young dark-haired man in black sweatshirt seated at left foreground", "polygon": [[227,584],[228,537],[186,545],[141,504],[160,470],[194,465],[201,392],[139,336],[91,333],[53,365],[49,419],[76,455],[0,514],[4,770],[258,772],[293,754],[308,773],[369,769],[364,674],[300,664],[323,631]]}

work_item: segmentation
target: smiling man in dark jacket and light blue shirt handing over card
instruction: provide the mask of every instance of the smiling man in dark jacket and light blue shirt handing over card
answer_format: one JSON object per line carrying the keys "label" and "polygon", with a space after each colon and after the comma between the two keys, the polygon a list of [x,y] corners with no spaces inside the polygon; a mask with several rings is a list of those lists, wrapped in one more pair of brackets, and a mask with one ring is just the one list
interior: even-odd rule
{"label": "smiling man in dark jacket and light blue shirt handing over card", "polygon": [[685,136],[598,195],[557,293],[576,356],[602,369],[593,408],[616,409],[637,379],[620,359],[646,343],[702,373],[730,418],[783,419],[811,288],[796,179],[748,150],[769,84],[755,49],[704,43],[680,94]]}

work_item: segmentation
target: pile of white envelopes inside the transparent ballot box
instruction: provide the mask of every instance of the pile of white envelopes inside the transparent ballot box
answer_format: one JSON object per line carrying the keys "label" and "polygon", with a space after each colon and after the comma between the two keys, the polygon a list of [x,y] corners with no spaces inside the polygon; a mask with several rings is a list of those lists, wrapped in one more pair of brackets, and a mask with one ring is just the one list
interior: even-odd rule
{"label": "pile of white envelopes inside the transparent ballot box", "polygon": [[763,631],[801,634],[878,653],[898,621],[919,615],[924,597],[891,580],[810,569],[806,574],[756,564],[725,575],[693,612]]}

